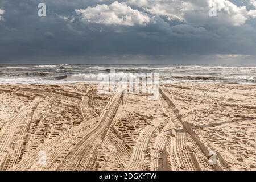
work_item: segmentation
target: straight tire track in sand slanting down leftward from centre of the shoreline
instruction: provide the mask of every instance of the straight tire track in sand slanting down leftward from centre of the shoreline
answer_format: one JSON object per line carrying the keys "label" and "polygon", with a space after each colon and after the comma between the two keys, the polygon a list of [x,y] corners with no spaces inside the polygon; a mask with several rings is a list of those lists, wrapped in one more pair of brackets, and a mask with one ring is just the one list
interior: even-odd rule
{"label": "straight tire track in sand slanting down leftward from centre of the shoreline", "polygon": [[122,90],[119,90],[101,115],[100,123],[66,156],[59,170],[93,170],[96,169],[97,148],[100,147],[112,119],[121,102]]}

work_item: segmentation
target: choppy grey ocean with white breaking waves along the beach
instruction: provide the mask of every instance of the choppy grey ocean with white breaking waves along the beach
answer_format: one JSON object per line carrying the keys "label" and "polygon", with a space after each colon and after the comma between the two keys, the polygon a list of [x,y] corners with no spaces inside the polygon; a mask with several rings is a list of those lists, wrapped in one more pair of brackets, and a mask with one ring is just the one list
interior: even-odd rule
{"label": "choppy grey ocean with white breaking waves along the beach", "polygon": [[0,83],[56,84],[72,82],[98,82],[101,77],[125,77],[129,73],[159,74],[160,82],[232,82],[255,83],[256,65],[28,65],[1,64]]}

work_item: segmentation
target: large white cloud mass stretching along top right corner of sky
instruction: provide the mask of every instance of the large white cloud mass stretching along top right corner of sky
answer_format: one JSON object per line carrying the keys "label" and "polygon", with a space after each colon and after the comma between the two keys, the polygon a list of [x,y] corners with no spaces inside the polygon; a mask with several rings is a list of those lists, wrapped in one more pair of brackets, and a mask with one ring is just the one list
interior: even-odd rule
{"label": "large white cloud mass stretching along top right corner of sky", "polygon": [[[245,6],[237,6],[229,0],[127,0],[147,13],[166,16],[168,20],[180,20],[196,26],[241,26],[255,13],[249,13]],[[253,2],[253,0],[250,0]],[[210,17],[208,11],[217,6],[217,17]],[[254,5],[256,5],[254,1]],[[249,13],[249,14],[248,14]]]}

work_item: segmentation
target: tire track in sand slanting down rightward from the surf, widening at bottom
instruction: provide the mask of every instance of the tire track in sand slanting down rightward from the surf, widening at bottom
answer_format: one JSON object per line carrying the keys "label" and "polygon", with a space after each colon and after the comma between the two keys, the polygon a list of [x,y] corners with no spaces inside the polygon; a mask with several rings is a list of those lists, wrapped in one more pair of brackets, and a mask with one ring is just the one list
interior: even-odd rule
{"label": "tire track in sand slanting down rightward from the surf, widening at bottom", "polygon": [[[180,121],[177,117],[178,111],[175,109],[175,105],[166,96],[162,89],[159,88],[160,102],[162,102],[163,108],[170,115],[171,121],[175,125],[174,136],[169,136],[166,147],[163,151],[163,158],[165,165],[168,169],[173,170],[214,170],[221,169],[218,164],[210,165],[207,159],[207,151],[204,151],[194,138],[195,134],[191,135],[188,131],[188,125]],[[177,113],[177,114],[176,114]],[[163,160],[163,159],[162,159]]]}

